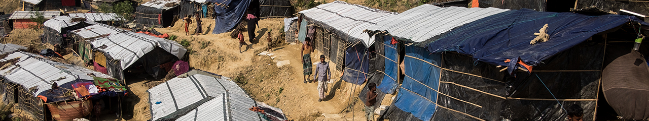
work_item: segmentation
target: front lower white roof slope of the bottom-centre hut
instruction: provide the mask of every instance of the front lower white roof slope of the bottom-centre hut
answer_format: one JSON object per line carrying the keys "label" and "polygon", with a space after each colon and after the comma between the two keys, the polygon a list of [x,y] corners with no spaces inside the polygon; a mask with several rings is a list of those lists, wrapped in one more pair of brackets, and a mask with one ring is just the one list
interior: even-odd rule
{"label": "front lower white roof slope of the bottom-centre hut", "polygon": [[249,109],[252,106],[256,104],[250,97],[223,93],[177,120],[262,120],[256,112]]}

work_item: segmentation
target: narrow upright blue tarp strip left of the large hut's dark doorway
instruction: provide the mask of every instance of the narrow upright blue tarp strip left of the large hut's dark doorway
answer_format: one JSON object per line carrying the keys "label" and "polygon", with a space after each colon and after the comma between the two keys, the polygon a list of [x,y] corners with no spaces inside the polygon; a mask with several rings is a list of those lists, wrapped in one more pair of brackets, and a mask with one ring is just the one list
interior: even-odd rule
{"label": "narrow upright blue tarp strip left of the large hut's dark doorway", "polygon": [[383,80],[381,80],[381,84],[376,86],[376,88],[380,89],[381,91],[385,93],[394,93],[395,89],[397,88],[397,72],[398,70],[398,64],[397,64],[397,46],[392,45],[392,37],[390,35],[386,35],[383,37],[384,44],[380,44],[384,46],[384,53],[385,53],[385,64],[386,64],[386,70],[384,70],[384,77]]}

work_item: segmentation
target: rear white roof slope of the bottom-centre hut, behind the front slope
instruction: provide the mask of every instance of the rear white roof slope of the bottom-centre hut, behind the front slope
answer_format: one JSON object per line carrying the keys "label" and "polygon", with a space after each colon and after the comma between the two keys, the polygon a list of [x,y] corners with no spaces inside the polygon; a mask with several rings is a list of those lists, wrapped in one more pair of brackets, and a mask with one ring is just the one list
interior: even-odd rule
{"label": "rear white roof slope of the bottom-centre hut, behind the front slope", "polygon": [[245,91],[228,77],[217,79],[201,74],[190,75],[186,78],[176,77],[147,90],[151,104],[151,118],[158,120],[177,111],[182,111],[181,109],[194,109],[200,105],[196,103],[201,103],[201,100],[218,97],[226,90],[230,95],[239,95],[252,101]]}

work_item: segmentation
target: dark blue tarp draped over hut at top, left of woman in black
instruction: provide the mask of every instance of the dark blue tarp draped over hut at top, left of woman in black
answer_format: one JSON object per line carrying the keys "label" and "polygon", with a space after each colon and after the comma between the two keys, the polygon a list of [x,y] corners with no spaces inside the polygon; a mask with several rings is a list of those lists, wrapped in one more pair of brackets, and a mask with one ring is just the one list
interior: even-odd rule
{"label": "dark blue tarp draped over hut at top, left of woman in black", "polygon": [[[234,29],[245,11],[248,9],[251,0],[208,0],[208,2],[218,3],[221,5],[214,5],[215,25],[212,34],[219,34],[230,32]],[[227,5],[227,7],[223,6]]]}

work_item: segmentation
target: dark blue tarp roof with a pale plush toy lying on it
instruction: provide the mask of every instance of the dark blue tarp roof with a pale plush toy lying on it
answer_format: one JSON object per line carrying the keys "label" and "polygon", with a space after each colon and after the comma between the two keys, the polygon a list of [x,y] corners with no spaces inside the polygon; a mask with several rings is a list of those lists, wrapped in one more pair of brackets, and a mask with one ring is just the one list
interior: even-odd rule
{"label": "dark blue tarp roof with a pale plush toy lying on it", "polygon": [[[520,60],[535,66],[541,60],[567,50],[596,33],[617,28],[630,21],[647,25],[640,19],[626,15],[590,16],[574,13],[510,10],[464,24],[427,44],[428,51],[457,51],[474,59],[507,66],[507,59]],[[636,23],[636,24],[637,24]],[[550,40],[537,44],[530,41],[535,32],[548,24]]]}

